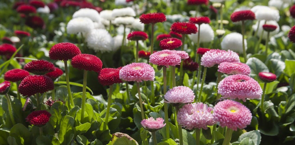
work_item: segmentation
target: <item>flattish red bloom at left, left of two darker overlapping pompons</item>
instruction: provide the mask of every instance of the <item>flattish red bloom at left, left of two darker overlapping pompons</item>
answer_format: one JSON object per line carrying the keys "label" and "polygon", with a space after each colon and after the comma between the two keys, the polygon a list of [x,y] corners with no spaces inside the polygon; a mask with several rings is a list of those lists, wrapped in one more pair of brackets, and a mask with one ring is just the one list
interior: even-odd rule
{"label": "flattish red bloom at left, left of two darker overlapping pompons", "polygon": [[4,80],[18,82],[20,80],[23,80],[28,75],[30,75],[28,71],[16,68],[5,72]]}

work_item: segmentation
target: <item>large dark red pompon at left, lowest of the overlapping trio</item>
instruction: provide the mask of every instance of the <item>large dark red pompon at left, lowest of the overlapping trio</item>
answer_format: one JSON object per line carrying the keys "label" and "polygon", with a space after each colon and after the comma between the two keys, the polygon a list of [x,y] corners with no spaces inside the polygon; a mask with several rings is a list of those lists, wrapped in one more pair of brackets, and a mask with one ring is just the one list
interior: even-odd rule
{"label": "large dark red pompon at left, lowest of the overlapping trio", "polygon": [[23,96],[31,96],[36,93],[45,93],[54,89],[53,81],[44,75],[28,75],[19,84],[19,93]]}

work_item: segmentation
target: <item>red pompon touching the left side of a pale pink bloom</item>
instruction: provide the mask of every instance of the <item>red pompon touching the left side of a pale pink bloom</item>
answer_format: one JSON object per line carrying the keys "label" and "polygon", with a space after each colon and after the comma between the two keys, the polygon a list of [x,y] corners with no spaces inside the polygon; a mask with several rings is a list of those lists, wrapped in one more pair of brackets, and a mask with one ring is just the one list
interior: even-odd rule
{"label": "red pompon touching the left side of a pale pink bloom", "polygon": [[119,71],[117,68],[103,68],[98,76],[99,83],[104,86],[123,83],[119,77]]}

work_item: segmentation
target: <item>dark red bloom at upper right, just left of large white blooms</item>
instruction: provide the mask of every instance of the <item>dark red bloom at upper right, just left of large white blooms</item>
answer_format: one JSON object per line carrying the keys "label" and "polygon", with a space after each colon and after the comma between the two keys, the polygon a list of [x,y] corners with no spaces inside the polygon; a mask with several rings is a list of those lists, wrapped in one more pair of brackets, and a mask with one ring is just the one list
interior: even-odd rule
{"label": "dark red bloom at upper right, just left of large white blooms", "polygon": [[255,20],[255,13],[250,10],[236,11],[230,16],[232,22]]}

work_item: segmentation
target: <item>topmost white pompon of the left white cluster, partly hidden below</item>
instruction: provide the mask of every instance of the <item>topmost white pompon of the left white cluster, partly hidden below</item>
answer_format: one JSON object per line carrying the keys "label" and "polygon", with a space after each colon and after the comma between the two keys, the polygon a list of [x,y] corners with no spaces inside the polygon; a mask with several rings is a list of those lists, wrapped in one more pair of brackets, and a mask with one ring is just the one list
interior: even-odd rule
{"label": "topmost white pompon of the left white cluster, partly hidden below", "polygon": [[99,22],[99,13],[95,9],[83,8],[79,9],[73,14],[73,18],[77,17],[87,17],[93,22]]}

